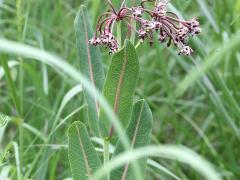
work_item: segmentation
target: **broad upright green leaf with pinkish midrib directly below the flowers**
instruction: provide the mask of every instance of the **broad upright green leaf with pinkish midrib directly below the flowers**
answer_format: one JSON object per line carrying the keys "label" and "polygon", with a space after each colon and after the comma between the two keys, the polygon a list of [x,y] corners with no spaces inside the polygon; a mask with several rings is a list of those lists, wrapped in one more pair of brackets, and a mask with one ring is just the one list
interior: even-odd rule
{"label": "broad upright green leaf with pinkish midrib directly below the flowers", "polygon": [[[113,107],[121,123],[126,127],[129,123],[133,95],[139,78],[139,62],[134,46],[130,41],[113,56],[103,87],[103,95]],[[112,124],[101,108],[99,127],[103,137],[108,137],[113,131]]]}

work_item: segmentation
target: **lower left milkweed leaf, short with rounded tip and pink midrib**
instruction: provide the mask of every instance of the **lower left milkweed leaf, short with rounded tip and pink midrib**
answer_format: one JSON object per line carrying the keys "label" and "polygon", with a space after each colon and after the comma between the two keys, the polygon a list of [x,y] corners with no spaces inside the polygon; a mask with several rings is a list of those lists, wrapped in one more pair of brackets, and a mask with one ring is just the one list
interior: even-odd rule
{"label": "lower left milkweed leaf, short with rounded tip and pink midrib", "polygon": [[101,161],[83,123],[74,122],[68,129],[68,146],[73,179],[91,179],[93,173],[101,166]]}

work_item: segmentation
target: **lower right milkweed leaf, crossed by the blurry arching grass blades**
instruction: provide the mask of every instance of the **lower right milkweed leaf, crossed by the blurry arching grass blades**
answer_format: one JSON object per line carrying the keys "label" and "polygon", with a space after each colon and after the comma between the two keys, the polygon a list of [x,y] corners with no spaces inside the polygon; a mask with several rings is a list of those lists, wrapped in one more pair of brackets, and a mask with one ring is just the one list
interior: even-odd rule
{"label": "lower right milkweed leaf, crossed by the blurry arching grass blades", "polygon": [[[126,135],[131,143],[131,148],[140,148],[150,144],[153,118],[148,104],[144,100],[138,101],[133,107],[131,122],[126,130]],[[124,151],[124,147],[117,142],[113,158]],[[144,177],[147,158],[137,161],[140,173]],[[111,173],[111,180],[135,180],[134,170],[131,163],[126,162],[123,167]]]}

